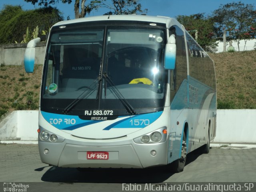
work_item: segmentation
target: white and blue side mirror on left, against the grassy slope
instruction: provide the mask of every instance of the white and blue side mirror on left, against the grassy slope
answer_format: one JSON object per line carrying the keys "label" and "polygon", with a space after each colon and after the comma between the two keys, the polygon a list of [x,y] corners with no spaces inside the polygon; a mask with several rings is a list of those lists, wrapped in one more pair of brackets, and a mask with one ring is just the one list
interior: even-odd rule
{"label": "white and blue side mirror on left, against the grassy slope", "polygon": [[41,39],[38,37],[28,42],[28,45],[24,54],[24,67],[27,73],[32,73],[34,71],[36,44],[39,43],[40,41]]}

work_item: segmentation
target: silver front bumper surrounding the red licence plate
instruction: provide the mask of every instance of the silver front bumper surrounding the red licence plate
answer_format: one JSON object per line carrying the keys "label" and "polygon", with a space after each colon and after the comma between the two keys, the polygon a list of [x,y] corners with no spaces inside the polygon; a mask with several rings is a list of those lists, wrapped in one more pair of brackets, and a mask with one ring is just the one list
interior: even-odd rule
{"label": "silver front bumper surrounding the red licence plate", "polygon": [[[167,141],[166,141],[167,142]],[[135,144],[84,146],[38,141],[42,162],[74,168],[146,168],[167,164],[168,144]],[[48,154],[45,154],[45,149]],[[152,155],[151,151],[156,151]],[[108,152],[108,160],[87,159],[87,152]]]}

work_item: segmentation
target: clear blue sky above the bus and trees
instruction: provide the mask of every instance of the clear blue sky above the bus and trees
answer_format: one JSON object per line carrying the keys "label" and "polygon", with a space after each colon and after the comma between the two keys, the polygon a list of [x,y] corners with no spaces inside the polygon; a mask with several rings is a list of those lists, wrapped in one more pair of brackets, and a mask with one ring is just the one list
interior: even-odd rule
{"label": "clear blue sky above the bus and trees", "polygon": [[[108,0],[110,1],[110,0]],[[152,16],[168,16],[175,18],[178,15],[192,15],[197,13],[205,13],[210,15],[214,10],[220,7],[220,4],[228,4],[231,2],[243,2],[244,4],[254,4],[255,0],[140,0],[142,9],[148,9],[147,15]],[[90,0],[87,0],[90,2]],[[0,0],[0,9],[2,10],[4,4],[20,5],[23,10],[31,10],[39,8],[38,4],[35,6],[27,3],[24,0]],[[71,4],[63,4],[61,0],[53,7],[58,8],[66,20],[68,16],[74,19],[74,0]],[[92,12],[89,16],[103,15],[109,10],[98,10]]]}

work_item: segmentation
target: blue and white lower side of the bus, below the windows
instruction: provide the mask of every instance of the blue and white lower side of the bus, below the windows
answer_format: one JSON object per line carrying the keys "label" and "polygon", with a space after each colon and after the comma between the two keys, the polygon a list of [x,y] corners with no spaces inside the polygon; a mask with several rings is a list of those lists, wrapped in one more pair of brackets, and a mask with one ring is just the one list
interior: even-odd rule
{"label": "blue and white lower side of the bus, below the windows", "polygon": [[[180,158],[181,136],[188,123],[187,153],[206,144],[216,129],[216,91],[188,76],[171,103],[168,163]],[[179,123],[178,123],[179,122]]]}

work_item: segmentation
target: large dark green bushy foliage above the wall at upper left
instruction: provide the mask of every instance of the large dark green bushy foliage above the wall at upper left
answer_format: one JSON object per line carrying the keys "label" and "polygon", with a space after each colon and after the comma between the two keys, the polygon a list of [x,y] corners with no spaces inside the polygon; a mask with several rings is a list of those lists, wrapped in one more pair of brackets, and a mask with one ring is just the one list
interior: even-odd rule
{"label": "large dark green bushy foliage above the wall at upper left", "polygon": [[[24,34],[26,39],[32,38],[32,32],[37,30],[41,35],[43,31],[63,20],[60,11],[47,7],[35,10],[22,10],[21,6],[6,5],[0,11],[0,43],[22,42]],[[29,36],[29,37],[28,37]]]}

